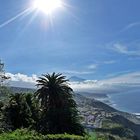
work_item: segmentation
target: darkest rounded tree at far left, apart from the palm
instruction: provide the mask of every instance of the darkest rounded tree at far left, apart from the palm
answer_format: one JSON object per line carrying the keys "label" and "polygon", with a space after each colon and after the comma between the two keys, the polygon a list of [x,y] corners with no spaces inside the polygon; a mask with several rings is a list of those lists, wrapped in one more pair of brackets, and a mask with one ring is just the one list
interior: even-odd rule
{"label": "darkest rounded tree at far left, apart from the palm", "polygon": [[5,120],[13,130],[27,128],[33,123],[32,112],[25,94],[16,93],[10,96],[10,100],[4,110]]}

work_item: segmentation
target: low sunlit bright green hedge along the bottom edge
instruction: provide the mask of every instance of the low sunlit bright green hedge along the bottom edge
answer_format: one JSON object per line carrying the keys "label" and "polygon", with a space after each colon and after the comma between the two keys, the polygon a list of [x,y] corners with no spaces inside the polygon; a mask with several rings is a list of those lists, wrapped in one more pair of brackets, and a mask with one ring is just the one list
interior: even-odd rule
{"label": "low sunlit bright green hedge along the bottom edge", "polygon": [[87,140],[87,138],[69,134],[41,135],[28,129],[17,129],[13,132],[3,133],[0,140]]}

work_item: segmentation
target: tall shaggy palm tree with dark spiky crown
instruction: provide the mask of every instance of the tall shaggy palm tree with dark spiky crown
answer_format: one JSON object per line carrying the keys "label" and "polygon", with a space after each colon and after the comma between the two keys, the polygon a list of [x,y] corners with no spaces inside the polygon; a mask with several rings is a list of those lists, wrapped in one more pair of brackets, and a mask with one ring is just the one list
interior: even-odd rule
{"label": "tall shaggy palm tree with dark spiky crown", "polygon": [[36,96],[42,108],[41,132],[83,135],[73,90],[66,77],[59,73],[46,74],[37,82]]}

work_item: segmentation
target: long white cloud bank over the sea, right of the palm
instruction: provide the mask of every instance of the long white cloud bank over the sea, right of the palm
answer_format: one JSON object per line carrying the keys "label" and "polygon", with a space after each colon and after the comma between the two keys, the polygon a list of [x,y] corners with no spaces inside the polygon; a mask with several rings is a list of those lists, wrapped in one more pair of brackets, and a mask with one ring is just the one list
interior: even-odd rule
{"label": "long white cloud bank over the sea, right of the palm", "polygon": [[71,87],[75,91],[99,94],[113,94],[140,91],[140,72],[119,75],[105,80],[90,80],[73,82]]}

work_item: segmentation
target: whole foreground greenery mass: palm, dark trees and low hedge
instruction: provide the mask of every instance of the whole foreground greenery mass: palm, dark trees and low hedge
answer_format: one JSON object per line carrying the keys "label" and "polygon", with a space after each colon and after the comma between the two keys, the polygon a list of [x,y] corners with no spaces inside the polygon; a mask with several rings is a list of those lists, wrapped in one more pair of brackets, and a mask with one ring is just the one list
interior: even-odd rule
{"label": "whole foreground greenery mass: palm, dark trees and low hedge", "polygon": [[[39,133],[39,135],[58,134],[43,137],[48,140],[60,139],[60,136],[63,136],[63,139],[81,140],[83,137],[73,136],[73,134],[84,136],[85,131],[80,124],[73,90],[69,87],[66,77],[55,73],[43,75],[37,80],[37,87],[34,94],[12,93],[6,102],[4,100],[0,102],[1,139],[6,137],[18,139],[22,133],[26,134],[23,139],[28,139],[26,138],[28,133],[22,130],[28,128],[31,130],[29,137],[35,139],[43,136],[38,137]],[[7,93],[6,88],[1,88],[1,91],[4,91],[2,94]],[[34,136],[32,134],[35,131]]]}

